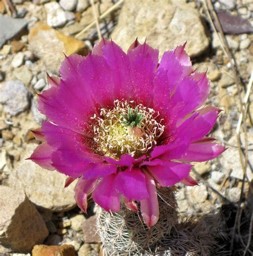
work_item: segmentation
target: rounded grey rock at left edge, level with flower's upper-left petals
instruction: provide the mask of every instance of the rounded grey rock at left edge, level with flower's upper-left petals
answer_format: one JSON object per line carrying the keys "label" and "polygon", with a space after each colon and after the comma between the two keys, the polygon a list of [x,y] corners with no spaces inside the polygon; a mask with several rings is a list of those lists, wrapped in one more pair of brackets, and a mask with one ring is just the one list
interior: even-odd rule
{"label": "rounded grey rock at left edge, level with flower's upper-left petals", "polygon": [[25,84],[20,81],[8,81],[0,89],[0,103],[4,111],[10,115],[17,115],[29,106],[30,93]]}

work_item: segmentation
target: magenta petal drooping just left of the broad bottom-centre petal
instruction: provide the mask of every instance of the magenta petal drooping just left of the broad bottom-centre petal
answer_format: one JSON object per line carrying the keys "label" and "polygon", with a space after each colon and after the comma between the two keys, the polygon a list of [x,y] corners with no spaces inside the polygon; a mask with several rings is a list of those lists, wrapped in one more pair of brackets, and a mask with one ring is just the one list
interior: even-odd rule
{"label": "magenta petal drooping just left of the broad bottom-centre petal", "polygon": [[120,194],[115,190],[116,174],[104,177],[92,193],[92,198],[105,211],[120,211]]}

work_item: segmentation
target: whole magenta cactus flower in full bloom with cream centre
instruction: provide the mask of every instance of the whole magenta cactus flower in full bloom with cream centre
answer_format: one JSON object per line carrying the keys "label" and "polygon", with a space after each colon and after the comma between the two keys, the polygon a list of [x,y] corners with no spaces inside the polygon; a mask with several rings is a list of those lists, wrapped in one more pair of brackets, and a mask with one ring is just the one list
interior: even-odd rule
{"label": "whole magenta cactus flower in full bloom with cream centre", "polygon": [[75,199],[86,212],[87,198],[106,211],[131,210],[137,201],[148,227],[159,219],[156,187],[196,185],[189,162],[219,156],[224,146],[206,137],[220,110],[203,106],[206,73],[178,46],[163,54],[136,40],[128,53],[102,40],[86,57],[66,57],[60,79],[39,95],[46,115],[34,131],[43,143],[30,159],[78,179]]}

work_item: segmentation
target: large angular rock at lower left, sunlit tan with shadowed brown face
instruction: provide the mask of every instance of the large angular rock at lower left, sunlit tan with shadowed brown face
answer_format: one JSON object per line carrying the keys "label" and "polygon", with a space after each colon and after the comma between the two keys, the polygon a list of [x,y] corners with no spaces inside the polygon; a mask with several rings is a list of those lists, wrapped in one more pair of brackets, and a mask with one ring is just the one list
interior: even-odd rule
{"label": "large angular rock at lower left, sunlit tan with shadowed brown face", "polygon": [[0,251],[28,253],[49,232],[22,190],[0,186]]}

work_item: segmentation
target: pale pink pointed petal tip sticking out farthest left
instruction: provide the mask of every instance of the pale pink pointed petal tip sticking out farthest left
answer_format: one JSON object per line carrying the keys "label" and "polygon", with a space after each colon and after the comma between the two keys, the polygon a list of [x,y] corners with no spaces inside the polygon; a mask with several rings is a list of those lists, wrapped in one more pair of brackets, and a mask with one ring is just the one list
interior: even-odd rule
{"label": "pale pink pointed petal tip sticking out farthest left", "polygon": [[54,170],[52,166],[53,148],[46,142],[37,146],[33,154],[28,158],[41,167],[49,170]]}

